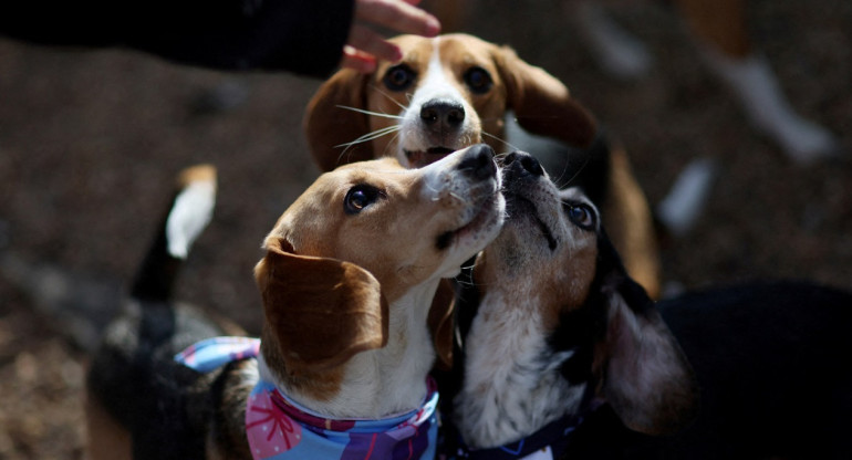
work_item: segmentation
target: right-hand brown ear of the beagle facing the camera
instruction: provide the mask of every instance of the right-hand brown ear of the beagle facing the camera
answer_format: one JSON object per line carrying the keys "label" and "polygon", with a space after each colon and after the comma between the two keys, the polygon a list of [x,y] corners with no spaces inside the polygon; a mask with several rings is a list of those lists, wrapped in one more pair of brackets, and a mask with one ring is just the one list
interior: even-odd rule
{"label": "right-hand brown ear of the beagle facing the camera", "polygon": [[574,147],[592,144],[598,129],[594,117],[570,97],[565,85],[508,46],[499,48],[495,60],[506,84],[508,108],[515,111],[521,127]]}

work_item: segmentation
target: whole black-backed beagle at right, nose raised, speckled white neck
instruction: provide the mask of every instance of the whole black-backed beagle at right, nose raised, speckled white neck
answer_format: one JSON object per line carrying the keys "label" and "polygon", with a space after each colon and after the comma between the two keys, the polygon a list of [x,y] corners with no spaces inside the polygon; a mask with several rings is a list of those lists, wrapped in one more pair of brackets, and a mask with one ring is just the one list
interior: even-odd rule
{"label": "whole black-backed beagle at right, nose raised, speckled white neck", "polygon": [[582,192],[522,153],[502,176],[508,218],[459,283],[449,458],[852,456],[852,294],[775,282],[654,304]]}

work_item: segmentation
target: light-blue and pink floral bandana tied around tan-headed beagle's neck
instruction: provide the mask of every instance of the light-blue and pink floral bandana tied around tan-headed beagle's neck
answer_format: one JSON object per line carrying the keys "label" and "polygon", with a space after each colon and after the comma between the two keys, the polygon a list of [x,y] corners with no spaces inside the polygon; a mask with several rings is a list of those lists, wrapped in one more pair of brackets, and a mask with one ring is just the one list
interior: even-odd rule
{"label": "light-blue and pink floral bandana tied around tan-headed beagle's neck", "polygon": [[[215,337],[191,345],[175,359],[199,372],[231,360],[258,358],[260,341]],[[263,366],[261,366],[262,368]],[[419,409],[380,420],[331,420],[311,414],[288,399],[262,378],[247,401],[246,436],[256,460],[433,459],[437,442],[438,393],[428,380],[428,395]]]}

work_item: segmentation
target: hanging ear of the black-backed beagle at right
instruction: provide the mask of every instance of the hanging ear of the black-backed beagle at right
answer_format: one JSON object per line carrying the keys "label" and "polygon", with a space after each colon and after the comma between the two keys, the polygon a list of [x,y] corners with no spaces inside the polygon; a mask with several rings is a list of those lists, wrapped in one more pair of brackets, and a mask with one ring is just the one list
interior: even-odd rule
{"label": "hanging ear of the black-backed beagle at right", "polygon": [[693,369],[642,288],[626,280],[607,293],[603,396],[624,425],[647,435],[674,433],[698,409]]}

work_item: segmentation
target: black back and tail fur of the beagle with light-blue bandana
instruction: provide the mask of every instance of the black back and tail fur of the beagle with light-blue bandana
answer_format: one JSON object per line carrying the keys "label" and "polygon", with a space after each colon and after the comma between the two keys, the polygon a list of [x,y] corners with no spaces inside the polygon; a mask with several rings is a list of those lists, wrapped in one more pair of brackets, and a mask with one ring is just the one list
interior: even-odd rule
{"label": "black back and tail fur of the beagle with light-blue bandana", "polygon": [[208,314],[170,300],[181,264],[167,250],[174,202],[86,378],[90,398],[129,431],[135,459],[204,459],[206,433],[221,424],[214,414],[224,396],[211,388],[224,388],[239,365],[201,374],[174,359],[200,339],[228,335]]}

